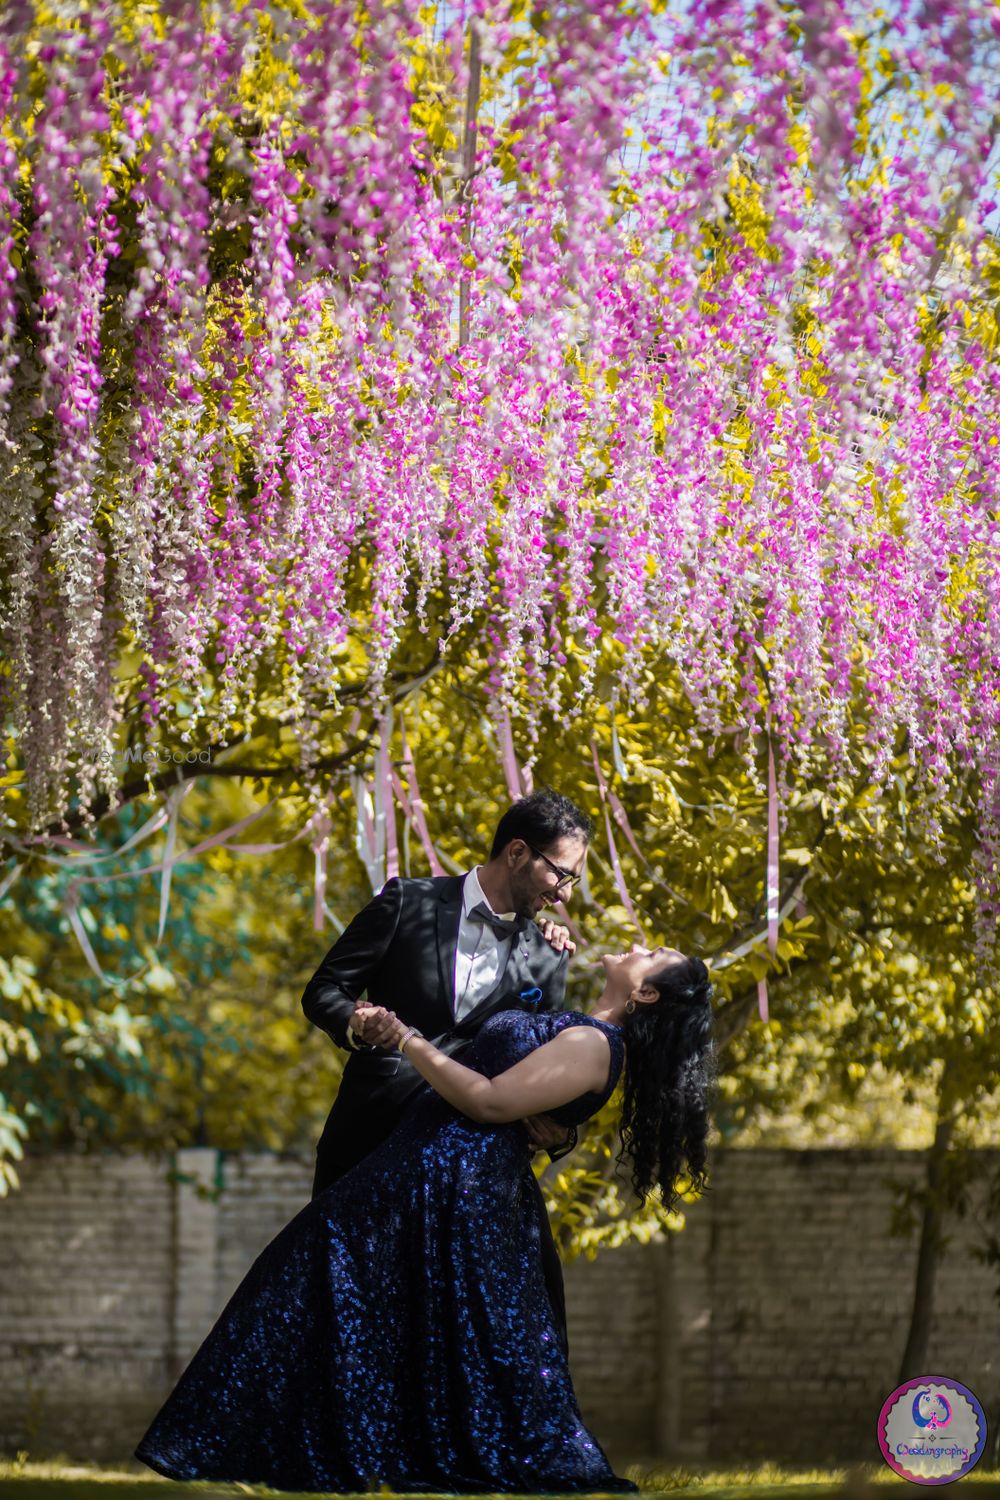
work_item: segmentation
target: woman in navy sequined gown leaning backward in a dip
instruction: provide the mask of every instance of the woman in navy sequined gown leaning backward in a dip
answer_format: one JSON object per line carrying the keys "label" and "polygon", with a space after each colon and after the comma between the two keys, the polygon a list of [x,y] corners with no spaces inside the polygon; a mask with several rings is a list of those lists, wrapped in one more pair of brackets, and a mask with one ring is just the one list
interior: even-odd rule
{"label": "woman in navy sequined gown leaning backward in a dip", "polygon": [[[519,1124],[580,1124],[624,1072],[640,1197],[703,1185],[709,981],[667,948],[604,960],[591,1016],[501,1011],[465,1054],[396,1022],[427,1080],[397,1130],[253,1263],[136,1448],[171,1479],[304,1491],[633,1491],[580,1416]],[[385,1014],[385,1012],[382,1012]],[[390,1012],[391,1014],[391,1012]]]}

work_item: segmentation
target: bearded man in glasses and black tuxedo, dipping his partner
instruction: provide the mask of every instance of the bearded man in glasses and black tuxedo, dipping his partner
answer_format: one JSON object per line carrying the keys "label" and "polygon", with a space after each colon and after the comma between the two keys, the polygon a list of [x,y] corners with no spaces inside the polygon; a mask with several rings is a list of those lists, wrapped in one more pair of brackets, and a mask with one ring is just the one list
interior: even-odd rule
{"label": "bearded man in glasses and black tuxedo, dipping his partner", "polygon": [[[397,1052],[379,1052],[387,1023],[357,1004],[391,1010],[450,1056],[462,1056],[499,1010],[561,1011],[568,952],[534,918],[567,900],[580,878],[592,824],[568,798],[541,790],[499,820],[490,858],[465,876],[387,880],[322,960],[303,1010],[351,1053],[316,1148],[313,1197],[375,1150],[423,1080]],[[526,1122],[532,1144],[564,1155],[576,1143],[552,1120]],[[556,1146],[556,1143],[559,1143]],[[546,1282],[565,1324],[562,1274],[552,1236]]]}

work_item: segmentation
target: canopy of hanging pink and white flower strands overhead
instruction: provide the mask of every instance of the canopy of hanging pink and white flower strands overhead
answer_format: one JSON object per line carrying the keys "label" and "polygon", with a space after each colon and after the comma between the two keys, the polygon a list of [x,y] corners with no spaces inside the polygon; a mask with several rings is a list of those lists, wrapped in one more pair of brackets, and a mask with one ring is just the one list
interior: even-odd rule
{"label": "canopy of hanging pink and white flower strands overhead", "polygon": [[417,621],[529,732],[610,644],[783,774],[973,776],[996,890],[996,6],[153,9],[0,16],[30,825],[123,646],[181,740],[280,674],[307,760]]}

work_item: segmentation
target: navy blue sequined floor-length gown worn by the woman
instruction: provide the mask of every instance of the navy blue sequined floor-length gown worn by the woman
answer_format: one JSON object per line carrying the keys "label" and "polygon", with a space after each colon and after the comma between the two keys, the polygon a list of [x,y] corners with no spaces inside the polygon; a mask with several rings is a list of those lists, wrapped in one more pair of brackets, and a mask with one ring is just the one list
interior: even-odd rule
{"label": "navy blue sequined floor-length gown worn by the woman", "polygon": [[[492,1016],[463,1056],[495,1077],[568,1011]],[[136,1448],[171,1479],[276,1490],[633,1491],[586,1430],[538,1252],[520,1124],[480,1125],[429,1086],[397,1130],[253,1263]]]}

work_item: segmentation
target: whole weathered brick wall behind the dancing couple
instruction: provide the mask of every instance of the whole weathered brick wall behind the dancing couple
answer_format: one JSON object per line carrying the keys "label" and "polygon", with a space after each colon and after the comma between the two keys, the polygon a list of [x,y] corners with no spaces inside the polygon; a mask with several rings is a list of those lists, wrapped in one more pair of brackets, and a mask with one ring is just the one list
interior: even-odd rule
{"label": "whole weathered brick wall behind the dancing couple", "polygon": [[[982,1161],[999,1154],[982,1152]],[[567,1268],[585,1416],[618,1462],[874,1458],[915,1239],[888,1234],[892,1150],[727,1150],[682,1234]],[[124,1458],[267,1240],[304,1161],[36,1155],[0,1202],[0,1450]],[[1000,1419],[1000,1308],[951,1222],[928,1372]]]}

